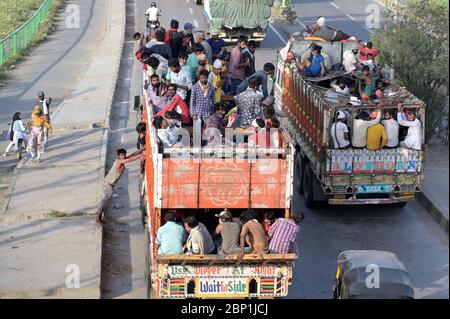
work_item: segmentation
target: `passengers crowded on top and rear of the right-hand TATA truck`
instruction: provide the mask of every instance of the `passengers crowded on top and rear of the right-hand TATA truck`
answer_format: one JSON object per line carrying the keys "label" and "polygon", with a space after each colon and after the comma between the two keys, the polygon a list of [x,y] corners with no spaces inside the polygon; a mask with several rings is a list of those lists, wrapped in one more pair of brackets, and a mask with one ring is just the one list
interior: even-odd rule
{"label": "passengers crowded on top and rear of the right-hand TATA truck", "polygon": [[[418,109],[405,108],[402,103],[395,107],[383,106],[385,101],[389,105],[392,101],[389,99],[389,92],[386,92],[388,83],[384,81],[381,67],[377,64],[380,51],[373,47],[373,43],[361,43],[328,27],[324,17],[308,26],[308,30],[312,37],[353,43],[343,53],[342,63],[335,65],[331,65],[329,55],[316,42],[312,42],[303,52],[287,52],[284,61],[285,65],[295,67],[306,80],[315,78],[315,84],[319,88],[328,89],[324,94],[326,98],[336,98],[338,103],[346,101],[347,107],[341,107],[336,112],[335,122],[331,126],[334,148],[380,150],[402,147],[421,150],[423,130]],[[320,81],[321,77],[332,75],[336,71],[342,71],[339,73],[342,75]],[[357,112],[353,112],[355,107]],[[353,118],[350,119],[350,116]]]}

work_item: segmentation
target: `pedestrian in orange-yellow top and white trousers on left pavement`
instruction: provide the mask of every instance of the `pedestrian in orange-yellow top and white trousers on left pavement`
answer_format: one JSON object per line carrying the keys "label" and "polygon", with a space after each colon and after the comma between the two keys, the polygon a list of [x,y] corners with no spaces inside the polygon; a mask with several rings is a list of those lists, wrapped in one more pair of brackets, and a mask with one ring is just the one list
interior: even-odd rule
{"label": "pedestrian in orange-yellow top and white trousers on left pavement", "polygon": [[36,105],[33,113],[31,113],[31,122],[27,124],[25,130],[30,128],[31,137],[30,142],[28,143],[27,151],[30,153],[33,161],[39,162],[41,159],[41,154],[46,148],[46,132],[52,131],[52,126],[48,122],[47,117],[39,105]]}

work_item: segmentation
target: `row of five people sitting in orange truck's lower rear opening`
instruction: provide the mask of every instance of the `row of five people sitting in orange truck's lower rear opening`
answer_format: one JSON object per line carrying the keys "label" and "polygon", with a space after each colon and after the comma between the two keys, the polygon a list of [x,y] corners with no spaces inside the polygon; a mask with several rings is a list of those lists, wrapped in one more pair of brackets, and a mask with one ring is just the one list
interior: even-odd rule
{"label": "row of five people sitting in orange truck's lower rear opening", "polygon": [[214,232],[195,216],[182,218],[176,211],[164,214],[164,225],[158,229],[156,244],[159,255],[212,255],[238,254],[288,254],[295,253],[295,242],[304,215],[291,219],[279,218],[273,212],[264,214],[258,221],[258,213],[244,211],[239,218],[224,210],[215,215],[218,224]]}

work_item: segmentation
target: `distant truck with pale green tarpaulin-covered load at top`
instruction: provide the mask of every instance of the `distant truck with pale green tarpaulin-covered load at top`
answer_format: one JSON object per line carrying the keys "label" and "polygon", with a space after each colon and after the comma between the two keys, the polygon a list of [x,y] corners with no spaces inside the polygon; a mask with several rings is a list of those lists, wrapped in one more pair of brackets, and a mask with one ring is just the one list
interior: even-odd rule
{"label": "distant truck with pale green tarpaulin-covered load at top", "polygon": [[205,25],[221,30],[226,43],[245,35],[259,44],[266,36],[273,0],[204,0],[203,6]]}

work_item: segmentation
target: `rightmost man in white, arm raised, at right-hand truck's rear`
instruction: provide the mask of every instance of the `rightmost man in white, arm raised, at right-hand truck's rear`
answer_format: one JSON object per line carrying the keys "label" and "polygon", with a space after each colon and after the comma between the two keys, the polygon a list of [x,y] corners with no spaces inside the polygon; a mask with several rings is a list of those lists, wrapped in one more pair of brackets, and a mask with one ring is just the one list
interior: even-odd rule
{"label": "rightmost man in white, arm raised, at right-hand truck's rear", "polygon": [[401,126],[408,127],[408,135],[400,142],[400,147],[411,148],[413,150],[422,149],[422,123],[412,110],[403,111],[404,107],[398,104],[397,121]]}

